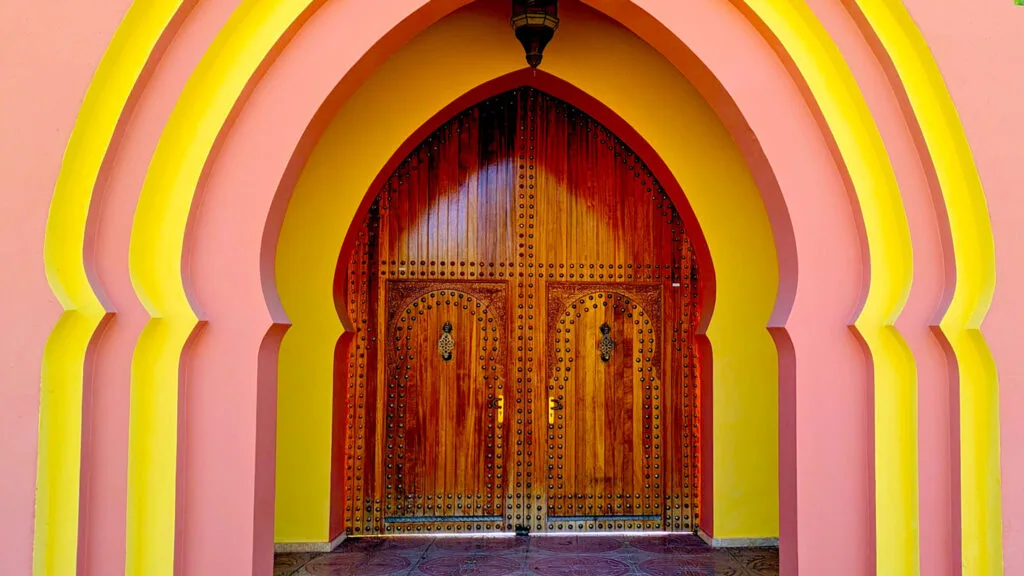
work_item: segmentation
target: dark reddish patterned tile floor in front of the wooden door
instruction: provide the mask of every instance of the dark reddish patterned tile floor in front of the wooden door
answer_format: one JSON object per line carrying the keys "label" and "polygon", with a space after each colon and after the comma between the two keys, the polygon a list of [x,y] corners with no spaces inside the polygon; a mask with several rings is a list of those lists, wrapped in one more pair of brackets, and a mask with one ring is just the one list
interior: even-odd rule
{"label": "dark reddish patterned tile floor in front of the wooden door", "polygon": [[278,554],[274,576],[777,576],[778,550],[713,550],[691,535],[351,538]]}

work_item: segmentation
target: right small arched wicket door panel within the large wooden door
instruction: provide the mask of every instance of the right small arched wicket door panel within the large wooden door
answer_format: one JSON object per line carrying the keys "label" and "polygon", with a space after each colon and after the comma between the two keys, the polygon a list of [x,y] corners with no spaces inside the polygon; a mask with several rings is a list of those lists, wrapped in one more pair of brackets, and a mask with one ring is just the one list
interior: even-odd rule
{"label": "right small arched wicket door panel within the large wooden door", "polygon": [[656,285],[548,285],[556,529],[662,527],[660,305]]}

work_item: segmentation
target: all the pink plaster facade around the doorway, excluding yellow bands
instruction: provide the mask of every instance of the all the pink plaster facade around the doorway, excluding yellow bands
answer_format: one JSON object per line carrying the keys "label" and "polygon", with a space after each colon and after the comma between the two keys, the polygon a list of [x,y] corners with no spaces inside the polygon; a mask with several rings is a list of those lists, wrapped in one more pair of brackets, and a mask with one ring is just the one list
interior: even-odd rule
{"label": "all the pink plaster facade around the doorway, excluding yellow bands", "polygon": [[[207,0],[176,23],[180,30],[158,50],[161,59],[150,63],[152,76],[139,87],[131,117],[123,119],[105,179],[97,186],[101,202],[90,214],[86,257],[118,315],[93,346],[93,358],[101,362],[92,364],[87,387],[91,442],[83,463],[83,573],[118,573],[124,556],[127,366],[146,319],[127,276],[135,199],[177,93],[237,3]],[[265,75],[253,79],[251,97],[222,134],[188,238],[188,285],[208,325],[186,357],[189,426],[182,444],[187,467],[179,542],[185,573],[265,573],[268,567],[273,472],[266,463],[273,451],[274,343],[283,332],[275,323],[285,319],[266,266],[297,170],[326,120],[374,64],[460,3],[324,2],[279,47],[280,57],[266,63]],[[693,79],[733,131],[768,199],[784,278],[773,325],[783,373],[783,565],[792,574],[798,565],[812,575],[825,566],[870,573],[870,379],[848,330],[865,282],[864,250],[842,167],[815,122],[815,106],[773,53],[771,39],[729,2],[645,0],[638,3],[642,9],[591,3]],[[1006,573],[1024,573],[1024,419],[1017,414],[1024,406],[1018,328],[1024,322],[1024,8],[1011,0],[906,4],[952,93],[989,202],[997,288],[985,331],[1001,384]],[[0,8],[0,295],[10,315],[9,328],[0,333],[0,558],[12,574],[31,571],[39,370],[60,312],[42,260],[49,199],[86,86],[128,5],[51,0]],[[945,355],[928,331],[948,289],[944,214],[935,210],[930,167],[920,160],[919,135],[901,108],[902,94],[887,78],[888,63],[871,53],[870,39],[865,41],[845,4],[813,0],[811,6],[853,69],[903,192],[915,278],[899,328],[922,382],[922,567],[930,576],[953,574],[955,388],[946,377]],[[334,55],[325,59],[324,53]],[[224,278],[238,282],[225,285]],[[213,382],[219,385],[206,385]],[[216,434],[224,429],[238,434]],[[214,437],[220,440],[212,442]],[[821,511],[837,501],[846,502],[840,513]]]}

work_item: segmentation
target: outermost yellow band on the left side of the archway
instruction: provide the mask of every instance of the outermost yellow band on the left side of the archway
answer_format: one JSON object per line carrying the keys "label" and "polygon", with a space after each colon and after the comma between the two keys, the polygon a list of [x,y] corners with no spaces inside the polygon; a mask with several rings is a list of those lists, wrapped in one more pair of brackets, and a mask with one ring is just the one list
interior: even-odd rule
{"label": "outermost yellow band on the left side of the archway", "polygon": [[180,8],[180,0],[134,2],[125,13],[86,91],[50,201],[43,257],[65,312],[43,353],[33,550],[38,575],[77,570],[84,365],[109,312],[83,257],[92,192],[132,91]]}

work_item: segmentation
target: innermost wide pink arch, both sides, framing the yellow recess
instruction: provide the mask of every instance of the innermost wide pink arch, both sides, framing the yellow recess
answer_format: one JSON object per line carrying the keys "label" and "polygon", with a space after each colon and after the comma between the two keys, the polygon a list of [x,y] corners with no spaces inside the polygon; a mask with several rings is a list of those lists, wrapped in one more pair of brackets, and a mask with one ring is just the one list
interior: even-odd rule
{"label": "innermost wide pink arch, both sides, framing the yellow recess", "polygon": [[[182,360],[188,374],[181,458],[189,489],[181,495],[179,520],[185,573],[270,566],[273,367],[287,323],[272,261],[297,175],[328,121],[375,65],[463,3],[407,0],[374,13],[327,3],[281,47],[221,134],[194,203],[202,208],[194,210],[186,246],[186,285],[207,324]],[[697,86],[732,131],[764,194],[784,279],[772,321],[782,373],[783,570],[868,573],[872,437],[864,382],[870,379],[847,329],[866,282],[863,266],[849,262],[863,262],[864,250],[828,141],[799,83],[730,4],[590,3]],[[332,57],[319,57],[325,53]],[[232,434],[220,434],[225,429]],[[836,501],[845,502],[840,513],[831,511]],[[217,515],[204,512],[214,504]]]}

